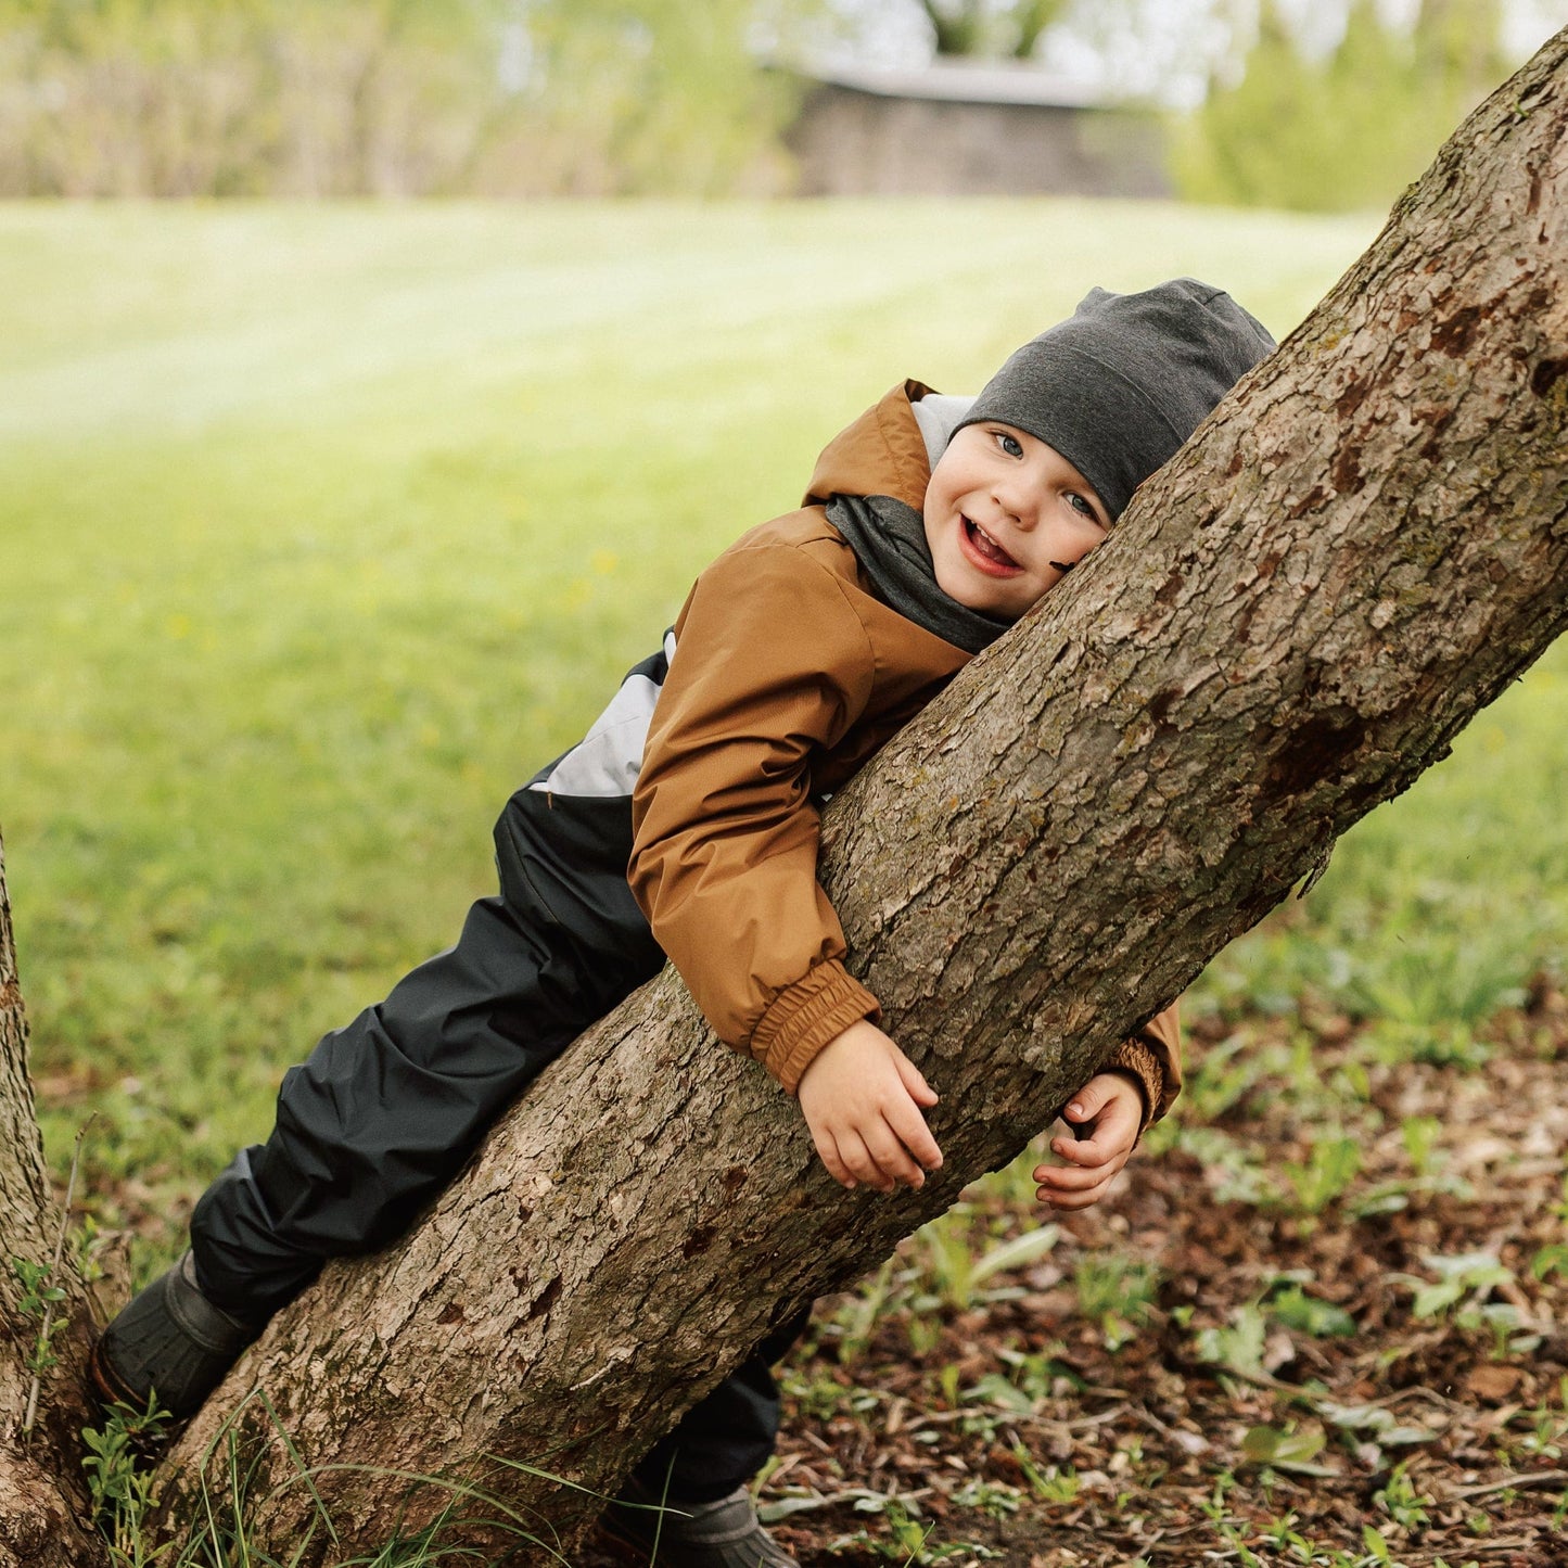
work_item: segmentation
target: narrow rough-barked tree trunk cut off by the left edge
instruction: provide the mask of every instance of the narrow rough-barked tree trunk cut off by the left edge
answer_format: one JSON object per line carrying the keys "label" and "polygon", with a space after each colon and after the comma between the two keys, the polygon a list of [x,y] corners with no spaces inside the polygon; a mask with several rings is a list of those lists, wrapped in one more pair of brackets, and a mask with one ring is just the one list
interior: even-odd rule
{"label": "narrow rough-barked tree trunk cut off by the left edge", "polygon": [[[86,1419],[82,1367],[86,1316],[74,1275],[67,1330],[55,1339],[60,1364],[42,1383],[34,1427],[24,1436],[31,1375],[25,1359],[38,1320],[19,1311],[13,1258],[47,1264],[60,1215],[49,1198],[44,1146],[27,1079],[27,1013],[16,975],[11,905],[0,847],[0,1568],[96,1568],[107,1560],[82,1519],[86,1494],[77,1433]],[[71,1314],[71,1308],[75,1308]]]}

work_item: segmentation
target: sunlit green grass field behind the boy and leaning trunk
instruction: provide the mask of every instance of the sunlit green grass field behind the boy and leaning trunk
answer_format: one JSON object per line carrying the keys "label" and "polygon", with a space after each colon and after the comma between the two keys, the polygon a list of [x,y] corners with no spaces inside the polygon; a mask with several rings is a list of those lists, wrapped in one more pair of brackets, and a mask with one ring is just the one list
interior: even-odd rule
{"label": "sunlit green grass field behind the boy and leaning trunk", "polygon": [[[0,209],[0,825],[56,1167],[172,1245],[284,1066],[489,891],[489,825],[905,375],[1090,284],[1283,334],[1367,220],[1083,202]],[[1463,1055],[1568,952],[1568,657],[1196,1007]],[[160,1225],[165,1226],[160,1229]]]}

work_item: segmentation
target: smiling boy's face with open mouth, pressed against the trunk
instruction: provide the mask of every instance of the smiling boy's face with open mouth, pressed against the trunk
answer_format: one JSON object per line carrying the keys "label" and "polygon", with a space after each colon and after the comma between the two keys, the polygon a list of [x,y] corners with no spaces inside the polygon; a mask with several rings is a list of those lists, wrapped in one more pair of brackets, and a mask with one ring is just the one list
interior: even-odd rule
{"label": "smiling boy's face with open mouth, pressed against the trunk", "polygon": [[1055,447],[994,420],[964,425],[925,491],[925,543],[949,599],[1016,621],[1110,528]]}

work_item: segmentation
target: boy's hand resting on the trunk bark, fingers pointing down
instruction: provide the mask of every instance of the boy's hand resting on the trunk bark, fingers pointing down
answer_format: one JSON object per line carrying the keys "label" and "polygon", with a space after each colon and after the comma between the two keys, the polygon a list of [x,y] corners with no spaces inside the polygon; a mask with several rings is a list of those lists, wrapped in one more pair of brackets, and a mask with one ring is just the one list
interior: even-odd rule
{"label": "boy's hand resting on the trunk bark, fingers pointing down", "polygon": [[920,1115],[922,1107],[936,1104],[936,1091],[869,1019],[834,1035],[795,1093],[822,1163],[845,1187],[924,1187],[925,1171],[942,1163],[942,1151]]}

